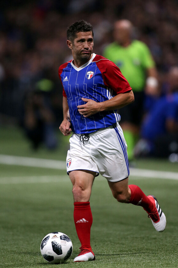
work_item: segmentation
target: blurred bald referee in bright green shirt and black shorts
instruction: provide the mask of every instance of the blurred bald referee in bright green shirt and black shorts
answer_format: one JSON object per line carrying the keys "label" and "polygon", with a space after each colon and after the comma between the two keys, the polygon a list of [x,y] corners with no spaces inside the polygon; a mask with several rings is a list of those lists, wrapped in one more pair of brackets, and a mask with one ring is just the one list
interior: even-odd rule
{"label": "blurred bald referee in bright green shirt and black shorts", "polygon": [[134,103],[119,111],[120,125],[128,144],[128,157],[133,160],[143,116],[145,95],[158,95],[158,80],[155,62],[145,43],[132,40],[133,25],[128,20],[114,23],[114,43],[108,45],[103,56],[114,62],[126,77],[134,92]]}

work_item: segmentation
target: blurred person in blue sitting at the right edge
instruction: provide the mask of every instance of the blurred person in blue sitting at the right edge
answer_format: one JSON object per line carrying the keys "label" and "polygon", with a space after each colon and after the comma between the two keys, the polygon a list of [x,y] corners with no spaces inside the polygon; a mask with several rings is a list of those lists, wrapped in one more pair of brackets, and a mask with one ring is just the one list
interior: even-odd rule
{"label": "blurred person in blue sitting at the right edge", "polygon": [[178,153],[178,67],[168,73],[168,92],[145,117],[135,156],[166,157]]}

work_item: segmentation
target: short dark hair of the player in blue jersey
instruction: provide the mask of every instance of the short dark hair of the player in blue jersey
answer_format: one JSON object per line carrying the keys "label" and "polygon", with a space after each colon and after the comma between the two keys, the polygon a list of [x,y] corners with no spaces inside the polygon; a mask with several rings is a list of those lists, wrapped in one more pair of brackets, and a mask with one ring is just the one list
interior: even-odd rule
{"label": "short dark hair of the player in blue jersey", "polygon": [[67,39],[73,42],[79,32],[92,32],[93,35],[93,26],[85,20],[79,20],[68,27]]}

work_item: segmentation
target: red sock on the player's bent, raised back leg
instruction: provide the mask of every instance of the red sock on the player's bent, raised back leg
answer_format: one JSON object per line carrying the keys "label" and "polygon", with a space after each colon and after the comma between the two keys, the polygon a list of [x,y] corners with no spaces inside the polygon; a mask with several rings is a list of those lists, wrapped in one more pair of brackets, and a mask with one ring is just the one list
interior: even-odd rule
{"label": "red sock on the player's bent, raised back leg", "polygon": [[143,207],[147,212],[153,209],[153,203],[137,185],[129,185],[131,197],[129,203]]}

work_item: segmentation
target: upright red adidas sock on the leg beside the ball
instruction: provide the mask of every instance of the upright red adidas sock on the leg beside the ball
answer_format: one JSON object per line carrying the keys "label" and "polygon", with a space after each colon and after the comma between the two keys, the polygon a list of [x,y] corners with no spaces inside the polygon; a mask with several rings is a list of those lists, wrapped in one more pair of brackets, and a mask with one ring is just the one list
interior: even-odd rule
{"label": "upright red adidas sock on the leg beside the ball", "polygon": [[93,217],[90,202],[74,202],[74,222],[82,247],[91,249],[90,229]]}

